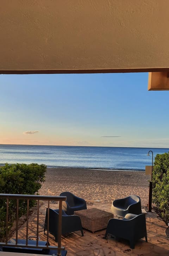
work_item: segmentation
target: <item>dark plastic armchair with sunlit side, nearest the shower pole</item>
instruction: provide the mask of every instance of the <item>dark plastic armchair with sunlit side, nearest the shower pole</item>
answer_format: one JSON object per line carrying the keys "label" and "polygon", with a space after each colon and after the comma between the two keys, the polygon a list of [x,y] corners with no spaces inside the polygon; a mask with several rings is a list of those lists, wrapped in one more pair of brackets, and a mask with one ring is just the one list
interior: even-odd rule
{"label": "dark plastic armchair with sunlit side, nearest the shower pole", "polygon": [[110,212],[119,216],[125,216],[127,213],[141,214],[141,199],[137,195],[130,195],[126,198],[116,199],[112,202]]}

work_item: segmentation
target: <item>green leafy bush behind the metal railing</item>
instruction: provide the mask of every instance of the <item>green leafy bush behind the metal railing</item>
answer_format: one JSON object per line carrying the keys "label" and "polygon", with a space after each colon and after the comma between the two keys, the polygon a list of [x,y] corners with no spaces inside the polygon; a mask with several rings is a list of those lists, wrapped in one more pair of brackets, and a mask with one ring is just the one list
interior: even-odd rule
{"label": "green leafy bush behind the metal railing", "polygon": [[[38,190],[45,181],[46,166],[44,164],[8,164],[0,168],[0,193],[1,194],[38,194]],[[29,207],[36,201],[31,200]],[[8,228],[16,219],[17,200],[9,200]],[[27,210],[27,201],[19,200],[19,217]],[[0,199],[0,236],[6,232],[6,200]]]}

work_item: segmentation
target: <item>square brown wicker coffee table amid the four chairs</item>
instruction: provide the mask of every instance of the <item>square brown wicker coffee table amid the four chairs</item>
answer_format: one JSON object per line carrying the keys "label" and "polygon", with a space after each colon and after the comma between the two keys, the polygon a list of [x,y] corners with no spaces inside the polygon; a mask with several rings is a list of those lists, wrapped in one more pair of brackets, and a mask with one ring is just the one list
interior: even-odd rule
{"label": "square brown wicker coffee table amid the four chairs", "polygon": [[108,220],[114,217],[113,213],[97,208],[75,211],[74,215],[80,217],[84,229],[88,229],[93,233],[97,230],[106,229]]}

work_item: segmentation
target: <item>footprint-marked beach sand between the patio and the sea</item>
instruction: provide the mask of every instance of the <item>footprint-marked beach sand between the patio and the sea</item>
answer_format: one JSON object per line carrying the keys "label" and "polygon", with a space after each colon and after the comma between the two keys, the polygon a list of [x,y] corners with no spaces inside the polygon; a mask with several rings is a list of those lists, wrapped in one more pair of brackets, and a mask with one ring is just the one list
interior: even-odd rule
{"label": "footprint-marked beach sand between the patio and the sea", "polygon": [[148,204],[149,175],[144,171],[110,171],[82,168],[47,168],[40,195],[60,195],[69,191],[88,203],[111,204],[114,199],[131,194]]}

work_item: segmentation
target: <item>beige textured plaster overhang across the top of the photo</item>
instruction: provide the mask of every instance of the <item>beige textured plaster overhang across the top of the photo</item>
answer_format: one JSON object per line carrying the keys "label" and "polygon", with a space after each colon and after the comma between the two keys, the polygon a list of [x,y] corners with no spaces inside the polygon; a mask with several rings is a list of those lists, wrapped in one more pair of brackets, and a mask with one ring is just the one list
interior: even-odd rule
{"label": "beige textured plaster overhang across the top of the photo", "polygon": [[168,0],[1,0],[0,70],[169,68]]}

